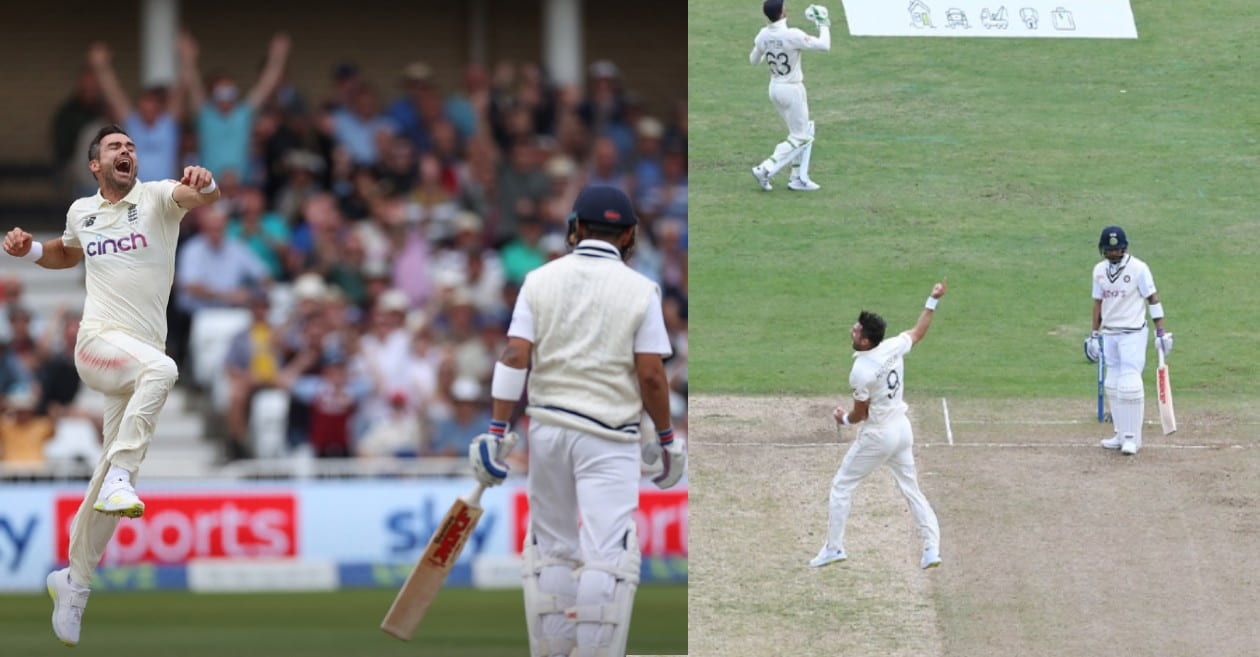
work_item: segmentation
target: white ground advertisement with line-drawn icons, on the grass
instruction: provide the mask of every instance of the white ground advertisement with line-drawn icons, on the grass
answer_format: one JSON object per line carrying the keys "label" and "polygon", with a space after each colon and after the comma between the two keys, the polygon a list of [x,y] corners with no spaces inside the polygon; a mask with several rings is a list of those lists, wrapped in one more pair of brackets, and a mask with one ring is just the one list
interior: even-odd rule
{"label": "white ground advertisement with line-drawn icons, on the grass", "polygon": [[843,0],[854,37],[1137,39],[1129,0]]}

